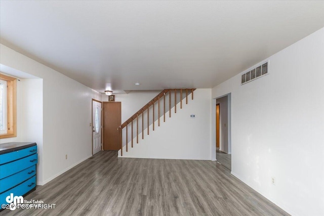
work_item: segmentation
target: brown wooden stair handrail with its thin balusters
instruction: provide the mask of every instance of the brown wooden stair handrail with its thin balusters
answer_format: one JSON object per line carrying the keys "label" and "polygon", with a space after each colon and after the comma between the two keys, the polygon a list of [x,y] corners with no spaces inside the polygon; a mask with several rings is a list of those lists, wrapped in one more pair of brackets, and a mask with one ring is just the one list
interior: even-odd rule
{"label": "brown wooden stair handrail with its thin balusters", "polygon": [[[191,91],[191,100],[193,100],[193,91],[196,89],[165,89],[155,96],[151,101],[139,109],[134,115],[127,119],[117,129],[120,133],[120,155],[123,156],[123,128],[126,127],[126,151],[128,151],[128,125],[131,123],[132,148],[133,148],[133,121],[136,120],[136,143],[138,143],[138,118],[142,115],[142,139],[144,139],[144,111],[147,110],[147,135],[149,135],[149,108],[153,106],[153,131],[154,131],[154,104],[158,103],[158,126],[160,126],[160,99],[163,98],[163,121],[166,121],[166,94],[169,93],[169,117],[171,117],[171,92],[174,91],[175,113],[177,113],[177,91],[180,91],[180,109],[182,109],[182,91],[186,91],[186,104],[188,104],[188,90]],[[190,94],[190,93],[189,93]]]}

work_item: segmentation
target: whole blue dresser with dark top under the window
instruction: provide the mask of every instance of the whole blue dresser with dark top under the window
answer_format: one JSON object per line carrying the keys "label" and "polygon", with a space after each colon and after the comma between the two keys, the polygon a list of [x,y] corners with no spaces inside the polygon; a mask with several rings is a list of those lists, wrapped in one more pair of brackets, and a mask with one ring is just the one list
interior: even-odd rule
{"label": "whole blue dresser with dark top under the window", "polygon": [[0,144],[0,204],[7,204],[10,193],[24,196],[36,189],[36,164],[36,143]]}

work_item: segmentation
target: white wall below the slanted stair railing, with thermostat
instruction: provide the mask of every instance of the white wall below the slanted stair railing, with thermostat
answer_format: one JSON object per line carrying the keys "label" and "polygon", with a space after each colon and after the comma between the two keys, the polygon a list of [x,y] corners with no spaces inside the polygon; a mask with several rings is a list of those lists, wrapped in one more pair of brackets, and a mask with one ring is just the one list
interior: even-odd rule
{"label": "white wall below the slanted stair railing, with thermostat", "polygon": [[[155,121],[155,131],[150,125],[150,134],[144,129],[144,140],[139,135],[139,143],[134,139],[134,148],[129,143],[129,151],[123,148],[123,157],[169,158],[169,159],[211,159],[211,89],[197,89],[194,100],[188,104],[183,100],[182,109],[177,105],[177,113],[171,109],[166,122],[160,126]],[[195,114],[195,118],[190,118]],[[120,156],[120,150],[118,152]]]}

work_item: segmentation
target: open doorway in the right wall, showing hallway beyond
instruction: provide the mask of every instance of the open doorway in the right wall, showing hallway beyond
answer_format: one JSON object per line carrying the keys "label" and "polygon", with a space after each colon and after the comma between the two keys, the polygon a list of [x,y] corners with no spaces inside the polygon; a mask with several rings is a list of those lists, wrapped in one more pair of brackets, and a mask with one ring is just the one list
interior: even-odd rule
{"label": "open doorway in the right wall, showing hallway beyond", "polygon": [[230,94],[216,99],[216,160],[231,166],[231,102]]}

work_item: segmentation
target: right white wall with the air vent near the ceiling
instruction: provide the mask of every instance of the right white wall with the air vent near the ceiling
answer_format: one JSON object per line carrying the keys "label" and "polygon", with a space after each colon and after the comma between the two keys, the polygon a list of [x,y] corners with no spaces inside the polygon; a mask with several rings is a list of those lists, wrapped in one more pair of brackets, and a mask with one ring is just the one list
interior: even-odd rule
{"label": "right white wall with the air vent near the ceiling", "polygon": [[212,90],[231,93],[232,174],[292,215],[324,215],[324,28],[268,59],[269,75]]}

